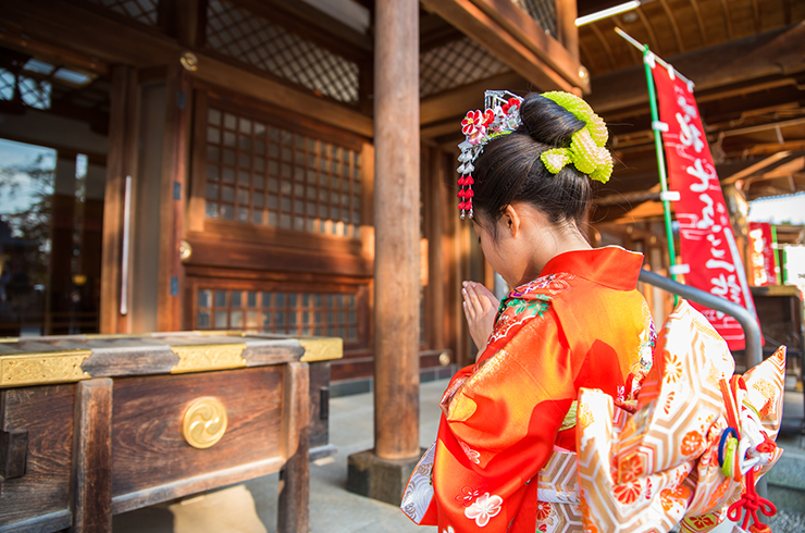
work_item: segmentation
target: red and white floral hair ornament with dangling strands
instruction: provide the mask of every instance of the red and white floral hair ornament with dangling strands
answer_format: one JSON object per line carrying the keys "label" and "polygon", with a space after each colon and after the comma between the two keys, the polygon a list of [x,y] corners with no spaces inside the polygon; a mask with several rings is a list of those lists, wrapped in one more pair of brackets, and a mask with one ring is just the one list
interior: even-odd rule
{"label": "red and white floral hair ornament with dangling strands", "polygon": [[484,94],[485,111],[470,111],[461,121],[461,133],[467,139],[458,145],[461,154],[458,161],[461,163],[458,173],[458,209],[461,210],[461,219],[469,215],[472,219],[472,197],[475,193],[472,185],[475,179],[472,172],[475,170],[473,161],[483,151],[484,145],[501,135],[510,134],[520,126],[520,103],[522,98],[508,90],[487,90]]}

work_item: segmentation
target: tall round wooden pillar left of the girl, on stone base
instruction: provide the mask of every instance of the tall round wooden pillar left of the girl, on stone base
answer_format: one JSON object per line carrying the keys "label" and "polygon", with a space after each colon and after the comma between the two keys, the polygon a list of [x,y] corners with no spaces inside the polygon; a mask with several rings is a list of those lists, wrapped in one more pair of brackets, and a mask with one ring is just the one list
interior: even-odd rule
{"label": "tall round wooden pillar left of the girl, on stone base", "polygon": [[419,2],[379,0],[374,59],[374,447],[419,455]]}

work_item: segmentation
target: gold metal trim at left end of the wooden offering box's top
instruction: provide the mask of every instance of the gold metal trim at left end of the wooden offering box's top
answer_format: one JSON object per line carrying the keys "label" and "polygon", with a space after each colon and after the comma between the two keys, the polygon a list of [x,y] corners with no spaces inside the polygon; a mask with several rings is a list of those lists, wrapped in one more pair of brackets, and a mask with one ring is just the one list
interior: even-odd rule
{"label": "gold metal trim at left end of the wooden offering box's top", "polygon": [[82,364],[92,350],[0,356],[0,388],[74,383],[91,377]]}

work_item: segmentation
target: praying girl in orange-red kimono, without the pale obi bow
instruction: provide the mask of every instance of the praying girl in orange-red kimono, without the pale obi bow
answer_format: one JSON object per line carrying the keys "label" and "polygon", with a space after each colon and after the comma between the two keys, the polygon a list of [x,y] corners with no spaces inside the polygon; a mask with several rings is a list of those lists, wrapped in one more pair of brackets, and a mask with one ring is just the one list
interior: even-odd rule
{"label": "praying girl in orange-red kimono, without the pale obi bow", "polygon": [[[652,364],[654,327],[635,288],[643,256],[593,249],[581,230],[590,175],[605,181],[611,172],[595,139],[603,127],[606,141],[603,121],[567,94],[512,98],[504,108],[478,112],[483,135],[465,127],[463,153],[478,151],[473,135],[490,138],[481,138],[476,158],[459,158],[467,174],[459,184],[469,186],[459,207],[488,263],[516,288],[498,309],[485,287],[463,283],[465,314],[481,350],[442,400],[430,507],[406,509],[404,500],[414,521],[439,533],[534,533],[535,476],[555,447],[575,449],[579,388],[626,401]],[[506,124],[517,113],[512,132],[491,127],[495,114]],[[466,126],[472,120],[470,113]],[[552,156],[565,164],[557,169]]]}

